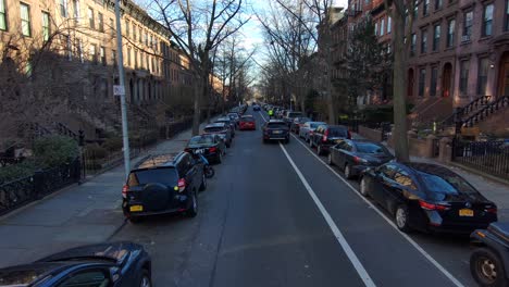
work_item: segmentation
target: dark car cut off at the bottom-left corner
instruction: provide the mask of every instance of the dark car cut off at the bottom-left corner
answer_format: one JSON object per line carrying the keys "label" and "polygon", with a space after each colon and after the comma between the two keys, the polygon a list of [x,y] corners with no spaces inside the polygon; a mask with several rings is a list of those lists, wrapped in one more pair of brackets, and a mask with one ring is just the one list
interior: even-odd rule
{"label": "dark car cut off at the bottom-left corner", "polygon": [[152,286],[151,260],[142,246],[128,241],[82,246],[0,269],[0,286]]}

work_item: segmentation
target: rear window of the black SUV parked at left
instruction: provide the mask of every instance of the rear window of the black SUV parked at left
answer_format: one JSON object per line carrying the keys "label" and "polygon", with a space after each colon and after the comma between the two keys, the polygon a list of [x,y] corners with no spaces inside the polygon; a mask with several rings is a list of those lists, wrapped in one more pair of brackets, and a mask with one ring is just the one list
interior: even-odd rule
{"label": "rear window of the black SUV parked at left", "polygon": [[141,186],[150,183],[163,185],[175,185],[178,182],[178,174],[175,167],[142,170],[132,172],[127,180],[129,187]]}

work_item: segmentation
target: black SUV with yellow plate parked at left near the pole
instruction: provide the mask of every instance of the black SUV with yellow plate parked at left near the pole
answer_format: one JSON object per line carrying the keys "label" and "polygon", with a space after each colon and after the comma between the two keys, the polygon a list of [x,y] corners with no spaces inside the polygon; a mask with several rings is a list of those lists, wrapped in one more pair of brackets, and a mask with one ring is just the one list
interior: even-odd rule
{"label": "black SUV with yellow plate parked at left near the pole", "polygon": [[131,171],[122,189],[124,215],[133,223],[145,215],[198,213],[198,190],[207,188],[203,163],[188,152],[147,157]]}

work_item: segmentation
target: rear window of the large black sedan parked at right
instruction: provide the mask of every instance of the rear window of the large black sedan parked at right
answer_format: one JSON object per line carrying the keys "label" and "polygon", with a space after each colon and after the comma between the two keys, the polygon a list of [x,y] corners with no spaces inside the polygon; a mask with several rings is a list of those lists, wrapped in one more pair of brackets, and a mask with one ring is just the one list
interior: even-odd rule
{"label": "rear window of the large black sedan parked at right", "polygon": [[436,175],[419,172],[422,183],[427,190],[444,195],[474,195],[477,190],[457,175]]}

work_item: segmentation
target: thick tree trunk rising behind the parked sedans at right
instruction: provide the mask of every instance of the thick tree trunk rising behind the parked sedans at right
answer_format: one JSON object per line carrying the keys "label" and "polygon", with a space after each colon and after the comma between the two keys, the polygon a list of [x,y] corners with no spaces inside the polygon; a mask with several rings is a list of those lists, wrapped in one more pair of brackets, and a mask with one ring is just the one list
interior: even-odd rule
{"label": "thick tree trunk rising behind the parked sedans at right", "polygon": [[[404,42],[405,20],[399,13],[393,13],[394,29],[394,130],[393,142],[398,161],[408,161],[407,138],[407,43]],[[411,39],[407,39],[410,41]]]}

